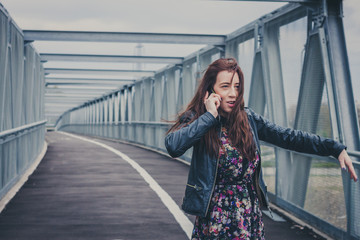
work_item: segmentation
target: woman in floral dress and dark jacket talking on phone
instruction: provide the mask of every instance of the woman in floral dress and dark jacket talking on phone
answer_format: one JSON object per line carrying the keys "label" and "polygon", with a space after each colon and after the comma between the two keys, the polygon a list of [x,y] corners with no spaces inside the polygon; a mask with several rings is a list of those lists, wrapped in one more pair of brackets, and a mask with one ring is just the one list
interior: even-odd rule
{"label": "woman in floral dress and dark jacket talking on phone", "polygon": [[264,239],[260,207],[268,207],[268,200],[259,140],[332,155],[357,181],[344,145],[277,126],[245,108],[243,95],[244,77],[236,60],[216,60],[166,136],[172,157],[193,147],[182,204],[186,213],[197,216],[192,239]]}

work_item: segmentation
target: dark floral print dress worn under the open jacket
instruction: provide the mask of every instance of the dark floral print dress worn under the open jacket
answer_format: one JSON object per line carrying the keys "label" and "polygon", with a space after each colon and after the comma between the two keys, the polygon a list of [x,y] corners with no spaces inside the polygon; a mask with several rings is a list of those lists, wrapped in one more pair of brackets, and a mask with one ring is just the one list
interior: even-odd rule
{"label": "dark floral print dress worn under the open jacket", "polygon": [[265,239],[264,224],[252,177],[259,164],[243,159],[221,129],[220,159],[206,217],[196,217],[192,239]]}

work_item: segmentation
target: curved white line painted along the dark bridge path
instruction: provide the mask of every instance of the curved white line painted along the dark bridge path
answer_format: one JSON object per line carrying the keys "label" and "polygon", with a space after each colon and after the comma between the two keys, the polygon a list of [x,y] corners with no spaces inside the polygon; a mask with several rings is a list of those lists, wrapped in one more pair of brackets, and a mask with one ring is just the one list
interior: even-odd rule
{"label": "curved white line painted along the dark bridge path", "polygon": [[106,144],[99,143],[97,141],[87,139],[84,137],[79,137],[79,136],[76,136],[76,135],[73,135],[70,133],[65,133],[65,132],[59,132],[59,133],[62,133],[64,135],[74,137],[74,138],[101,146],[101,147],[115,153],[116,155],[118,155],[119,157],[124,159],[126,162],[128,162],[144,178],[144,180],[150,185],[150,188],[159,196],[161,201],[164,203],[164,205],[169,209],[171,214],[174,216],[175,220],[180,224],[181,228],[184,230],[184,232],[186,233],[188,238],[189,239],[191,238],[192,229],[194,227],[192,222],[190,222],[190,220],[186,217],[186,215],[179,208],[179,206],[176,204],[176,202],[170,197],[170,195],[167,192],[165,192],[165,190],[162,189],[162,187],[155,181],[155,179],[153,179],[151,177],[151,175],[144,168],[142,168],[137,162],[135,162],[134,160],[129,158],[124,153],[122,153]]}

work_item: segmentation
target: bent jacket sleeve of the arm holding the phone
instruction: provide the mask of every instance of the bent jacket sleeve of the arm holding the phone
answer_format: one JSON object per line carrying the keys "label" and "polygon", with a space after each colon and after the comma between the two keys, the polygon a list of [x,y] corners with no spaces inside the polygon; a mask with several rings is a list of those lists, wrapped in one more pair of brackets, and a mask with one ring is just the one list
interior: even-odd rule
{"label": "bent jacket sleeve of the arm holding the phone", "polygon": [[165,138],[165,147],[168,153],[171,157],[183,155],[216,124],[216,118],[206,112],[189,125],[169,133]]}

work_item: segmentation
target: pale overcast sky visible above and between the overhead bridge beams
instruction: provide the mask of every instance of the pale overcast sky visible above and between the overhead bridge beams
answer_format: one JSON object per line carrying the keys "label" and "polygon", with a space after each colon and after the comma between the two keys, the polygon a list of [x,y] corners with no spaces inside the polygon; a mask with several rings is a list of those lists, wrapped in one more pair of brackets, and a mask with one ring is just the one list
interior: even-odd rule
{"label": "pale overcast sky visible above and between the overhead bridge beams", "polygon": [[[229,34],[283,5],[200,0],[0,0],[21,29]],[[344,1],[344,24],[354,93],[360,99],[360,4]],[[40,52],[134,54],[136,44],[35,42]],[[145,44],[145,55],[187,56],[203,46]],[[252,61],[252,59],[249,59]],[[46,63],[45,67],[80,67]],[[87,63],[94,67],[95,64]],[[119,67],[99,63],[103,68]],[[147,65],[146,68],[159,68]],[[121,67],[120,67],[121,68]]]}

